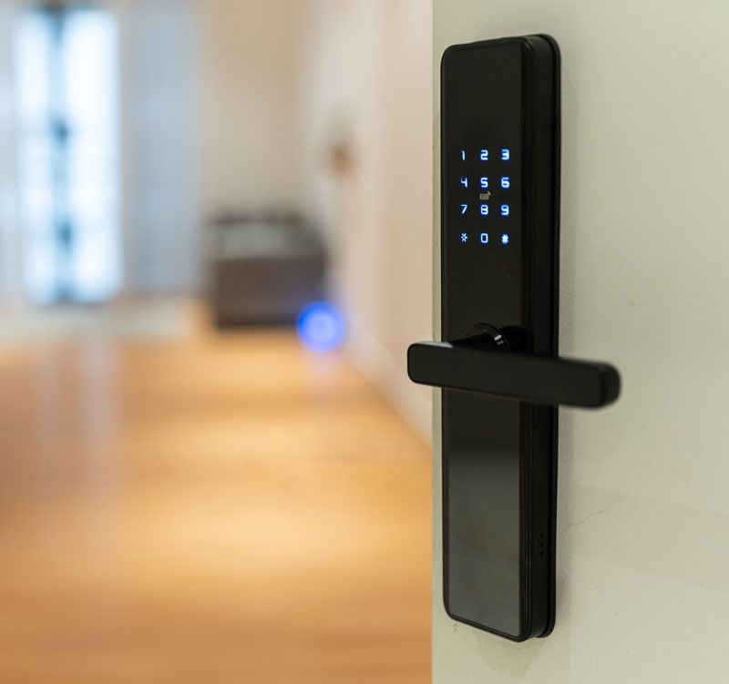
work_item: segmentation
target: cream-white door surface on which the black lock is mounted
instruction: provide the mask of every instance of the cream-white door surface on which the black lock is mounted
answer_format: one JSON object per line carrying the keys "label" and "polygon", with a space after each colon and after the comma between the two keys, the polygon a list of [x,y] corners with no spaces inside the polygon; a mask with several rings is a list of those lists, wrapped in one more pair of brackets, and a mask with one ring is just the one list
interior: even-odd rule
{"label": "cream-white door surface on which the black lock is mounted", "polygon": [[711,0],[435,0],[436,136],[448,45],[560,42],[560,351],[623,378],[614,407],[560,411],[547,639],[513,644],[447,618],[436,454],[438,684],[729,681],[726,26],[729,5]]}

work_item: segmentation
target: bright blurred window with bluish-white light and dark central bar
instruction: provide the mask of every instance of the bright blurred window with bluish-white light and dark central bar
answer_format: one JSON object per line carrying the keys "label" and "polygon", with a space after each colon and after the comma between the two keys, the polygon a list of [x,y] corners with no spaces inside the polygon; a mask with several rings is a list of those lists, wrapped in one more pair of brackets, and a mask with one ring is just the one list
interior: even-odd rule
{"label": "bright blurred window with bluish-white light and dark central bar", "polygon": [[34,301],[104,301],[121,282],[117,27],[40,5],[15,33],[24,281]]}

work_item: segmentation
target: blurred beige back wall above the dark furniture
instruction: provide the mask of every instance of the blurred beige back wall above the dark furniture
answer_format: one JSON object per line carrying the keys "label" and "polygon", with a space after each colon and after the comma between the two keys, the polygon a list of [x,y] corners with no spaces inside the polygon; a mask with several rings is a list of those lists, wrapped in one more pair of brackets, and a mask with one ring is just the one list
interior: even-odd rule
{"label": "blurred beige back wall above the dark furniture", "polygon": [[206,213],[297,207],[306,2],[199,0]]}

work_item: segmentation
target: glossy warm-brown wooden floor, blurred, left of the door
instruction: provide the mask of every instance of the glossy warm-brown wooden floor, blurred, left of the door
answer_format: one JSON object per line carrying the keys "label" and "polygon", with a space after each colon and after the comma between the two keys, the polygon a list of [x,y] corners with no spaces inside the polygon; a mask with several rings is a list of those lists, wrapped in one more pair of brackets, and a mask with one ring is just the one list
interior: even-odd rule
{"label": "glossy warm-brown wooden floor, blurred, left of the door", "polygon": [[430,454],[289,332],[0,348],[0,682],[430,680]]}

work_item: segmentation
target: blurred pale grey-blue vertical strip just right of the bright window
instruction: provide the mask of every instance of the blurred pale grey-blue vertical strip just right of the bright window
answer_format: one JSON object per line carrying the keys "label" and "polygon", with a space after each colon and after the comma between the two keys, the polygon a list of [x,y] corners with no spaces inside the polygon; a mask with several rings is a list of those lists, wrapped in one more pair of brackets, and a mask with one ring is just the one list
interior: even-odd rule
{"label": "blurred pale grey-blue vertical strip just right of the bright window", "polygon": [[198,7],[117,0],[125,291],[200,287]]}

